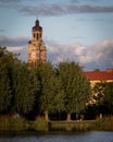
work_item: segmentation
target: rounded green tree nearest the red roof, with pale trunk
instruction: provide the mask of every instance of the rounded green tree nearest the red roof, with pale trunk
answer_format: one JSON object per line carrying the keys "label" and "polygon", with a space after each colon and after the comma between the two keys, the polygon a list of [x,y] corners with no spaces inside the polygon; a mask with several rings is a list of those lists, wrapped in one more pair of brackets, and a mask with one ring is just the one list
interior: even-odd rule
{"label": "rounded green tree nearest the red roof, with pale trunk", "polygon": [[78,63],[60,62],[58,70],[64,90],[64,106],[67,120],[71,120],[72,113],[79,114],[85,109],[90,95],[90,83],[83,74]]}

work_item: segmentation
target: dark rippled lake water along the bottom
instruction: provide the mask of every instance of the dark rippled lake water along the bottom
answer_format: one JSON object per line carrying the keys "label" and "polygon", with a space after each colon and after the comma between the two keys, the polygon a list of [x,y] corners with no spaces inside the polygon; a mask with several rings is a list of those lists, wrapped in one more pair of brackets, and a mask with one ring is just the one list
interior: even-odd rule
{"label": "dark rippled lake water along the bottom", "polygon": [[113,132],[2,132],[0,142],[113,142]]}

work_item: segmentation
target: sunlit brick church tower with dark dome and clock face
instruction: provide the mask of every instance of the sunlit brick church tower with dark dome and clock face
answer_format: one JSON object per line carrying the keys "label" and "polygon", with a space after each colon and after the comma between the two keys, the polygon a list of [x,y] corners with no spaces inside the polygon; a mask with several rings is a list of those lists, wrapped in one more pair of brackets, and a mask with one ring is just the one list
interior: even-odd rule
{"label": "sunlit brick church tower with dark dome and clock face", "polygon": [[28,68],[35,68],[38,61],[46,62],[46,46],[42,42],[42,27],[37,20],[28,42]]}

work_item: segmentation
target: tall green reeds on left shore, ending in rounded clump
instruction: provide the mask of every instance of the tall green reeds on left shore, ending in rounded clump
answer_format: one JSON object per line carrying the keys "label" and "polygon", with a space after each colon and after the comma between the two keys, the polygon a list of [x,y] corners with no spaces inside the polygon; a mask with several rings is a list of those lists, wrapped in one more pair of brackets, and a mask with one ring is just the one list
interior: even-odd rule
{"label": "tall green reeds on left shore, ending in rounded clump", "polygon": [[24,118],[1,117],[0,131],[48,131],[48,122],[45,118],[38,117],[35,121],[28,121]]}

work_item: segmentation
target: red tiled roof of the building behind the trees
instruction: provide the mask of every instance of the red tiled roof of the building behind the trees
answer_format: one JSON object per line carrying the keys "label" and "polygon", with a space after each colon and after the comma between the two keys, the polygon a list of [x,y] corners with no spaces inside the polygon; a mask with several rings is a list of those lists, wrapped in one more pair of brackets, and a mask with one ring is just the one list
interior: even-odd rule
{"label": "red tiled roof of the building behind the trees", "polygon": [[95,70],[95,71],[87,71],[84,72],[84,74],[90,80],[90,81],[106,81],[106,80],[113,80],[113,69],[108,69],[105,71]]}

